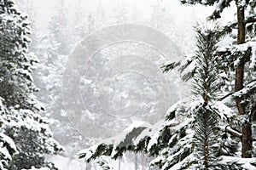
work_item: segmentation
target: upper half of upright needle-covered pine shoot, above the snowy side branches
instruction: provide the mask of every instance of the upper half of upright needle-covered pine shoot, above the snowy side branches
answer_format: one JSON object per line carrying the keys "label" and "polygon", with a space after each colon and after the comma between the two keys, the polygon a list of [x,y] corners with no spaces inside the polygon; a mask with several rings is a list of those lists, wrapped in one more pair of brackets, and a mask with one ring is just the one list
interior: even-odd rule
{"label": "upper half of upright needle-covered pine shoot, above the snowy side branches", "polygon": [[215,99],[218,96],[220,88],[215,52],[221,34],[218,32],[218,25],[214,26],[215,24],[212,23],[212,28],[209,27],[210,25],[206,28],[204,28],[205,26],[195,27],[197,69],[193,77],[193,94],[201,96],[206,105],[210,99]]}

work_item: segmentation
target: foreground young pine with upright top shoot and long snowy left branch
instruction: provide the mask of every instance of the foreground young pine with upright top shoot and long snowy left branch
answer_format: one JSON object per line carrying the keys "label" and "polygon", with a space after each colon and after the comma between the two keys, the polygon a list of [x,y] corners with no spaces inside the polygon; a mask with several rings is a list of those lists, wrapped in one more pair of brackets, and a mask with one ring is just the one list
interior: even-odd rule
{"label": "foreground young pine with upright top shoot and long snowy left branch", "polygon": [[124,133],[81,150],[80,158],[90,161],[105,155],[116,159],[131,150],[157,156],[151,165],[163,170],[256,169],[254,159],[236,155],[238,142],[227,134],[241,137],[241,133],[230,127],[238,124],[236,114],[216,100],[221,85],[217,42],[222,31],[212,27],[199,27],[196,31],[198,50],[193,58],[195,95],[192,103],[181,100],[172,105],[166,112],[165,122],[154,126],[134,123]]}

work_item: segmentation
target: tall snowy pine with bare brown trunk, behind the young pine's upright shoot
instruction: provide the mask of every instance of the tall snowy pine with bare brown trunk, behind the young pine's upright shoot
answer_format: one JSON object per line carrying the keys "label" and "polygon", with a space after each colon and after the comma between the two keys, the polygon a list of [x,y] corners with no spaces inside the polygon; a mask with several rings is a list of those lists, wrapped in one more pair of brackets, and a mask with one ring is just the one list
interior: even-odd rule
{"label": "tall snowy pine with bare brown trunk, behind the young pine's upright shoot", "polygon": [[[181,0],[181,3],[215,6],[212,14],[208,17],[209,20],[218,20],[222,17],[224,9],[229,8],[231,4],[236,5],[234,11],[236,20],[220,27],[218,31],[224,36],[228,35],[234,38],[232,45],[218,48],[215,53],[215,59],[218,62],[216,66],[222,79],[219,100],[229,105],[230,108],[237,107],[240,115],[237,117],[237,120],[240,120],[238,129],[241,129],[244,137],[241,138],[242,156],[251,157],[253,150],[251,126],[255,121],[256,105],[256,3],[254,0]],[[194,69],[188,69],[191,67]],[[183,80],[188,81],[195,74],[195,55],[186,56],[181,61],[164,65],[163,69],[164,71],[177,69],[181,72]]]}

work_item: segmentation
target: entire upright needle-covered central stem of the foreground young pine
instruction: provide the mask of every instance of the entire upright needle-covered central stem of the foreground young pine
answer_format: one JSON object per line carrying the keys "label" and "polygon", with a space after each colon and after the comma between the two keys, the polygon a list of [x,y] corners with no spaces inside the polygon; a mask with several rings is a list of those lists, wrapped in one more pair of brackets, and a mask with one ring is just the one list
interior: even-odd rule
{"label": "entire upright needle-covered central stem of the foreground young pine", "polygon": [[[213,25],[213,24],[212,24]],[[212,109],[212,104],[218,95],[220,81],[214,53],[217,43],[221,37],[218,28],[196,27],[197,51],[195,60],[197,70],[195,71],[193,94],[203,103],[195,109],[195,156],[199,162],[198,169],[219,169],[218,149],[220,146],[219,134],[217,130],[218,113]]]}

